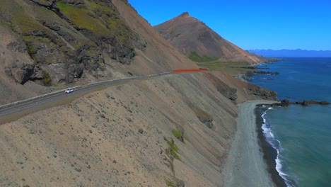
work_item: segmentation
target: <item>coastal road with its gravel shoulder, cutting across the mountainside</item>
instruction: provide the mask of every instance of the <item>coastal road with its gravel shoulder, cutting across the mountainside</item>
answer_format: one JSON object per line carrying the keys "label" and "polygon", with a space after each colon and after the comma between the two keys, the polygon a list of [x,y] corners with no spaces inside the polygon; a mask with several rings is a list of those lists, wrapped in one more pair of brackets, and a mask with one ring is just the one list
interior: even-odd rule
{"label": "coastal road with its gravel shoulder, cutting across the mountainside", "polygon": [[[205,70],[206,71],[206,70]],[[209,70],[207,70],[209,71]],[[45,109],[45,106],[50,103],[58,103],[54,104],[53,106],[57,106],[61,103],[60,101],[65,101],[67,98],[78,98],[82,96],[83,94],[87,94],[91,91],[95,91],[98,89],[103,89],[104,87],[115,85],[115,84],[123,84],[129,81],[134,81],[134,80],[142,80],[142,79],[151,79],[154,77],[161,77],[165,76],[168,74],[192,74],[192,73],[197,73],[201,71],[192,71],[192,72],[163,72],[160,74],[150,74],[150,75],[144,75],[144,76],[139,76],[139,77],[128,77],[124,79],[114,79],[114,80],[107,80],[107,81],[100,81],[100,82],[95,82],[91,84],[87,84],[84,86],[76,86],[73,92],[70,94],[65,94],[64,90],[63,91],[57,91],[54,93],[50,94],[45,94],[42,96],[37,96],[35,98],[30,98],[25,101],[17,101],[14,103],[9,103],[4,106],[0,106],[0,124],[6,123],[11,120],[16,120],[18,118],[21,118],[23,115],[27,115],[29,113],[34,113],[36,111],[40,111]],[[44,106],[44,107],[40,107]],[[52,107],[48,106],[47,108]],[[24,113],[22,113],[25,111]]]}

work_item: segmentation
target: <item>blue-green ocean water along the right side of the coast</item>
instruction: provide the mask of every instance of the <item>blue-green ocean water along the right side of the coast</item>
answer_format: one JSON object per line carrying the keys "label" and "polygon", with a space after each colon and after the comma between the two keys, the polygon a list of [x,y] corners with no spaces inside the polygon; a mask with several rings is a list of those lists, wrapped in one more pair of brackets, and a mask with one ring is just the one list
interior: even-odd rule
{"label": "blue-green ocean water along the right side of the coast", "polygon": [[[277,91],[279,100],[331,102],[331,58],[286,58],[259,67],[252,84]],[[270,108],[262,129],[277,149],[277,171],[287,186],[331,186],[331,106]]]}

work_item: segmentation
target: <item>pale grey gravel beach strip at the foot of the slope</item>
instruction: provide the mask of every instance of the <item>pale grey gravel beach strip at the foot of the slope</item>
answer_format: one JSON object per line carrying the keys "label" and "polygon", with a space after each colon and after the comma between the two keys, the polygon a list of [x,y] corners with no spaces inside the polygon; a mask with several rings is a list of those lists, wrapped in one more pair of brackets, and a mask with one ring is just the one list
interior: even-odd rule
{"label": "pale grey gravel beach strip at the foot of the slope", "polygon": [[271,103],[275,101],[246,101],[238,105],[237,132],[226,159],[224,186],[277,186],[263,158],[255,118],[258,104]]}

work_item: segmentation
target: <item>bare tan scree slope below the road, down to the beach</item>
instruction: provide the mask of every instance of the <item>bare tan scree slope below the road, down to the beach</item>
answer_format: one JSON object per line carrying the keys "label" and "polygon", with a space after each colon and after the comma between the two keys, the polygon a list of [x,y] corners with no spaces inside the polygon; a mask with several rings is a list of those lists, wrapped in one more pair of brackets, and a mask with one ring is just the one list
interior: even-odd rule
{"label": "bare tan scree slope below the road, down to the beach", "polygon": [[169,75],[94,92],[0,125],[0,186],[222,186],[250,86]]}

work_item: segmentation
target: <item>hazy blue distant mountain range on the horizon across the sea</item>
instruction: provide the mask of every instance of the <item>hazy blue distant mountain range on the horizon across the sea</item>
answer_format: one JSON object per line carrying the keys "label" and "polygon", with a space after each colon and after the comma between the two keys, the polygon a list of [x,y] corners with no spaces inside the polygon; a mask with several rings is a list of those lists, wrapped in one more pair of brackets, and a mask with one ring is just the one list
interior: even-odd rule
{"label": "hazy blue distant mountain range on the horizon across the sea", "polygon": [[248,50],[263,57],[331,57],[331,50]]}

